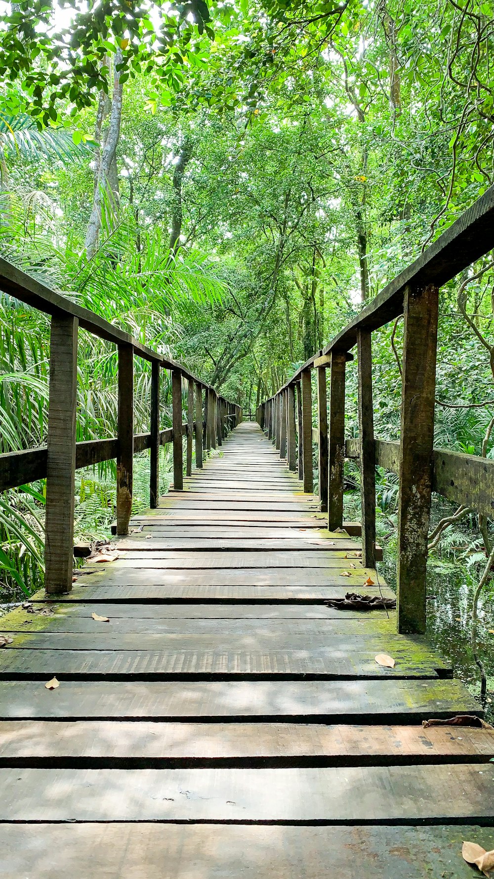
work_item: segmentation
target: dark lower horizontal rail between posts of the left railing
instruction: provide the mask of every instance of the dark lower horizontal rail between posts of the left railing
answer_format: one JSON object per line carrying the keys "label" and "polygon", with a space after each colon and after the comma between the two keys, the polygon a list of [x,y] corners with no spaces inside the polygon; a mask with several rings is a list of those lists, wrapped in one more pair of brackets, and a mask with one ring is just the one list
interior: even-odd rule
{"label": "dark lower horizontal rail between posts of the left railing", "polygon": [[[187,435],[188,427],[182,425],[182,434]],[[160,431],[160,445],[166,446],[173,440],[170,428]],[[134,433],[134,454],[151,447],[150,433]],[[87,439],[76,443],[76,470],[91,467],[103,461],[111,461],[119,454],[119,440]],[[18,488],[19,485],[37,482],[47,478],[47,447],[26,449],[22,452],[0,454],[0,491]]]}

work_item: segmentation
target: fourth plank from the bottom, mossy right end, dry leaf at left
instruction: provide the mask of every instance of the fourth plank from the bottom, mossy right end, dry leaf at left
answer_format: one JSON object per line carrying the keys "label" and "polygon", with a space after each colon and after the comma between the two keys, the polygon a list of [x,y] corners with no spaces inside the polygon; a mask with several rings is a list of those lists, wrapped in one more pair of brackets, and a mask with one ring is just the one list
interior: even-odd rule
{"label": "fourth plank from the bottom, mossy right end, dry leaf at left", "polygon": [[465,713],[482,711],[457,680],[65,680],[56,694],[36,680],[0,681],[3,720],[410,724]]}

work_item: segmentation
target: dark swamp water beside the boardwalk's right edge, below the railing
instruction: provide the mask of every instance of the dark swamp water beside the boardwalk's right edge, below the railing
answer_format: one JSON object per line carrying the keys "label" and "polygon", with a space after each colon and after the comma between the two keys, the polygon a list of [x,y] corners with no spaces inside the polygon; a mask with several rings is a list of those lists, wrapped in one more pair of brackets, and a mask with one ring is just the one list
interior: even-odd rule
{"label": "dark swamp water beside the boardwalk's right edge, below the railing", "polygon": [[[396,556],[384,551],[380,573],[396,588]],[[472,599],[478,579],[458,563],[427,565],[427,640],[478,697],[480,677],[470,644]],[[494,721],[494,581],[483,589],[478,612],[478,655],[487,673],[486,717]]]}

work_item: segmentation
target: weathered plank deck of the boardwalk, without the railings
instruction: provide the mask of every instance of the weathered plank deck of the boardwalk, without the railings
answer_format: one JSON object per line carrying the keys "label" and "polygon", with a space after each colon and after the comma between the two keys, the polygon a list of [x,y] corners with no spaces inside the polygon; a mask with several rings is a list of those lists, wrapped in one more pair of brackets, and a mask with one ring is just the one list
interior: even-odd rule
{"label": "weathered plank deck of the boardwalk, without the railings", "polygon": [[391,591],[318,510],[242,424],[118,559],[0,621],[0,879],[472,875],[494,736],[424,729],[482,710],[393,613],[327,607]]}

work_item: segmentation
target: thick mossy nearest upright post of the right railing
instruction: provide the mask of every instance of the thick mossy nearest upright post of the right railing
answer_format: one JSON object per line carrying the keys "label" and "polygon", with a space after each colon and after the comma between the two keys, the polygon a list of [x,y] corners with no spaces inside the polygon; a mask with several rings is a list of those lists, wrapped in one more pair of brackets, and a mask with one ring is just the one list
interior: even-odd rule
{"label": "thick mossy nearest upright post of the right railing", "polygon": [[397,624],[425,632],[427,534],[431,512],[437,287],[406,287],[403,299],[402,427],[398,496]]}

